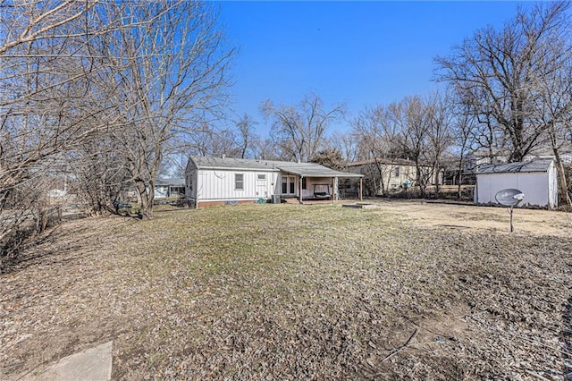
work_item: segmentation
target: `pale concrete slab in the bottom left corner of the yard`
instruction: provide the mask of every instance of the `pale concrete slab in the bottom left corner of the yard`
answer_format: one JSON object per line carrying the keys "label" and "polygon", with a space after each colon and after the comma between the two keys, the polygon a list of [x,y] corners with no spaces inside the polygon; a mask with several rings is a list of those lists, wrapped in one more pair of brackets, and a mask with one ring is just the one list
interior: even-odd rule
{"label": "pale concrete slab in the bottom left corner of the yard", "polygon": [[104,343],[64,357],[38,375],[22,377],[23,381],[109,381],[111,379],[112,343]]}

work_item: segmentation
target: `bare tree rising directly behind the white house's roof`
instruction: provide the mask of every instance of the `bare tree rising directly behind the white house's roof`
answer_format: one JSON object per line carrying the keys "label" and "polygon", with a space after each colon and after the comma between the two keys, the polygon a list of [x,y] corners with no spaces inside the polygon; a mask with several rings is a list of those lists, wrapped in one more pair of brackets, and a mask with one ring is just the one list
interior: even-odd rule
{"label": "bare tree rising directly behind the white house's roof", "polygon": [[322,98],[311,94],[299,106],[274,106],[266,100],[260,111],[272,122],[273,139],[282,149],[283,158],[306,162],[322,148],[325,131],[344,115],[345,107],[337,105],[326,110]]}

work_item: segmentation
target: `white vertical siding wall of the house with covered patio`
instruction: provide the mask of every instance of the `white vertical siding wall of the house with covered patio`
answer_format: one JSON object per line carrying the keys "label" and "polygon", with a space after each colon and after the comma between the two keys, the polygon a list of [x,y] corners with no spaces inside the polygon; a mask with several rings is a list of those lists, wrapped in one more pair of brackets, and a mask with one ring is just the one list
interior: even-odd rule
{"label": "white vertical siding wall of the house with covered patio", "polygon": [[[277,174],[248,170],[198,170],[193,171],[191,198],[198,201],[269,199],[273,194],[273,184]],[[243,175],[243,189],[235,187],[235,174]],[[258,180],[258,175],[265,180]],[[195,181],[196,180],[196,181]]]}

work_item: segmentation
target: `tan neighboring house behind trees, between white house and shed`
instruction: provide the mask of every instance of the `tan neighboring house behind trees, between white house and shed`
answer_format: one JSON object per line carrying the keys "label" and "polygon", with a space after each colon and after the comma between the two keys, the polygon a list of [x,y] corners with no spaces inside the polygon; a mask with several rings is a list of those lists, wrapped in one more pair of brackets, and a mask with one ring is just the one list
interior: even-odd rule
{"label": "tan neighboring house behind trees, between white house and shed", "polygon": [[[421,166],[422,174],[429,176],[431,167]],[[364,174],[370,196],[383,194],[392,190],[415,185],[416,165],[411,160],[399,158],[375,158],[350,163],[348,170],[356,174]],[[432,182],[433,179],[429,179]]]}

